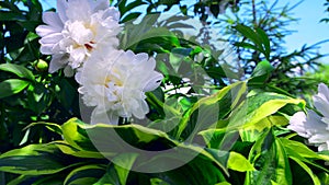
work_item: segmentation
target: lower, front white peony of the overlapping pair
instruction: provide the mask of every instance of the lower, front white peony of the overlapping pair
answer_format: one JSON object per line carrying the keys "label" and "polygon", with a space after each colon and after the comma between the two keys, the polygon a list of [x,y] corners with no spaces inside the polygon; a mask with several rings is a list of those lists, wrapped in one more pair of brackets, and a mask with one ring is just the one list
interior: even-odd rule
{"label": "lower, front white peony of the overlapping pair", "polygon": [[159,86],[162,74],[147,54],[111,49],[91,56],[79,69],[76,80],[87,106],[95,108],[91,124],[117,125],[118,117],[144,118],[149,112],[145,92]]}

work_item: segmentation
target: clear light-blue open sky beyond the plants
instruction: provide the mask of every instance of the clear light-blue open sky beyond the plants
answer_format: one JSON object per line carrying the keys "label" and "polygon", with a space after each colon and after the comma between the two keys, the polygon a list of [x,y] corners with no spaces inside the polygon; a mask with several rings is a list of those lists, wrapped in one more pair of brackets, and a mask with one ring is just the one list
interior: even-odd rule
{"label": "clear light-blue open sky beyond the plants", "polygon": [[[275,0],[269,0],[270,3]],[[45,10],[55,7],[56,1],[43,0]],[[279,4],[290,3],[291,5],[299,2],[299,0],[279,0]],[[292,12],[293,16],[299,18],[297,23],[293,23],[288,26],[290,30],[296,31],[292,35],[288,35],[285,39],[286,48],[288,51],[300,48],[304,44],[313,45],[318,42],[329,39],[329,23],[320,23],[324,18],[329,18],[325,12],[325,0],[304,0]],[[329,54],[329,42],[322,44],[319,48],[321,54]],[[329,57],[322,59],[324,62],[329,63]]]}

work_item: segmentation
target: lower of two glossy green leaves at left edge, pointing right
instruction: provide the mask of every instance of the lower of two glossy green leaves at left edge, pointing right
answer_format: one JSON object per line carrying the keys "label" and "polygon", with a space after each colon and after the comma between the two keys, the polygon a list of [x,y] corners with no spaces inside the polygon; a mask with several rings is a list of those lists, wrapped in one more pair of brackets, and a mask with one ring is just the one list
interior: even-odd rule
{"label": "lower of two glossy green leaves at left edge, pointing right", "polygon": [[30,84],[29,81],[9,79],[0,82],[0,99],[20,93]]}

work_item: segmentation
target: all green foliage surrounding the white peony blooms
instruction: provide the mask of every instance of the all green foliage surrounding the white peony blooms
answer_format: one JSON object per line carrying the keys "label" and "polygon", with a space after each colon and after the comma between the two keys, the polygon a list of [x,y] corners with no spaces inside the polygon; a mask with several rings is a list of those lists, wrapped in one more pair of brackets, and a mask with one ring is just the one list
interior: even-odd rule
{"label": "all green foliage surrounding the white peony blooms", "polygon": [[[329,153],[316,152],[286,129],[290,116],[309,106],[293,96],[328,83],[327,67],[302,76],[321,57],[309,54],[316,45],[285,54],[284,27],[295,21],[288,5],[111,3],[124,23],[121,49],[155,56],[164,76],[146,94],[148,119],[122,119],[118,126],[80,120],[76,81],[63,71],[47,72],[50,57],[39,54],[35,34],[39,1],[0,2],[0,184],[328,184]],[[228,7],[234,18],[217,22]],[[172,8],[182,15],[160,18]],[[196,42],[206,26],[186,39],[183,30],[195,27],[183,15],[224,25],[245,76],[219,62],[223,50]],[[291,78],[297,67],[300,77]]]}

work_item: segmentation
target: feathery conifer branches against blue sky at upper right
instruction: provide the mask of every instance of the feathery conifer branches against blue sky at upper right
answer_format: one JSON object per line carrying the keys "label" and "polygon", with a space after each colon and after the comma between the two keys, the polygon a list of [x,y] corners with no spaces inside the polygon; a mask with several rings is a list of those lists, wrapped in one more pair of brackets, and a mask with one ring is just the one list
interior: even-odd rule
{"label": "feathery conifer branches against blue sky at upper right", "polygon": [[[218,25],[224,38],[236,46],[239,62],[247,76],[250,76],[257,66],[268,60],[273,66],[266,83],[284,89],[291,94],[310,94],[308,83],[299,79],[310,68],[317,69],[320,59],[325,56],[318,54],[317,48],[324,42],[304,45],[302,48],[287,53],[285,37],[293,33],[286,28],[291,23],[298,21],[293,16],[296,4],[279,5],[279,0],[243,1],[239,11],[219,16],[213,24]],[[319,83],[319,81],[316,81]]]}

